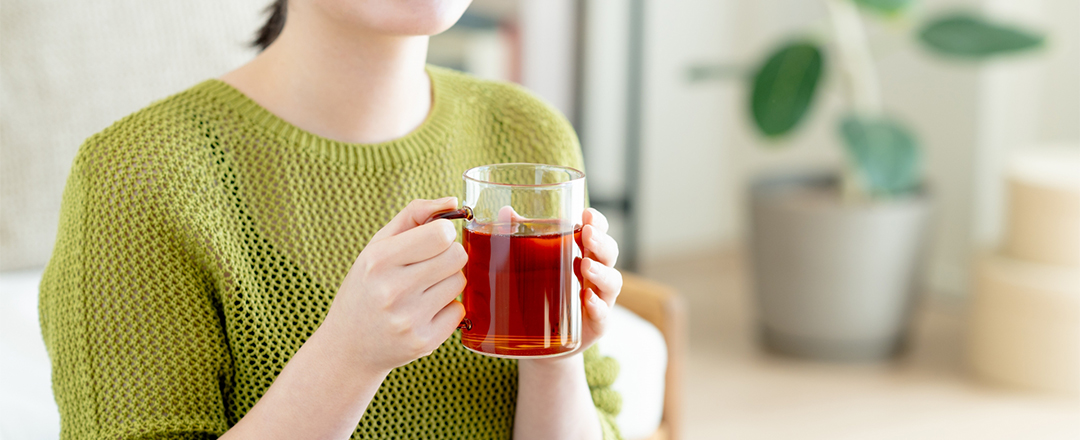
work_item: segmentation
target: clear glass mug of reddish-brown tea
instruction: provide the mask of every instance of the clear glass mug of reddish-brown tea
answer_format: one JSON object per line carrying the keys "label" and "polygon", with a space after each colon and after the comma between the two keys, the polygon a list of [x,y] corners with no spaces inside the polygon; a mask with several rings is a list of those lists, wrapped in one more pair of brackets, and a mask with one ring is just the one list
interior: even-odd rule
{"label": "clear glass mug of reddish-brown tea", "polygon": [[469,254],[461,344],[498,358],[548,358],[581,344],[581,214],[585,174],[566,166],[500,163],[462,174],[459,210]]}

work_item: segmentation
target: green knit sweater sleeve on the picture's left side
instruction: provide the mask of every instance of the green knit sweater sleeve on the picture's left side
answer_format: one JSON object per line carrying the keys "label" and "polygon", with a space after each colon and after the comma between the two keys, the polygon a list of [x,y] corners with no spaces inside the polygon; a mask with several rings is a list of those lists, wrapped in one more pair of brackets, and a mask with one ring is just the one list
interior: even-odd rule
{"label": "green knit sweater sleeve on the picture's left side", "polygon": [[80,149],[40,288],[60,437],[216,438],[229,355],[213,282],[170,219],[176,170],[118,138]]}

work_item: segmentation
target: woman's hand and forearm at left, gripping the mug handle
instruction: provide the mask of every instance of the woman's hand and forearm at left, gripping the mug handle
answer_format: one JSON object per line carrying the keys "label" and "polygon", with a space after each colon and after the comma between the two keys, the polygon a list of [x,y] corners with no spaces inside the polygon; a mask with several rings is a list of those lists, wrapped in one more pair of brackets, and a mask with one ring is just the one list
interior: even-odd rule
{"label": "woman's hand and forearm at left, gripping the mug handle", "polygon": [[379,230],[341,282],[323,324],[221,439],[348,438],[390,370],[454,333],[468,261],[450,221],[457,199],[414,200]]}

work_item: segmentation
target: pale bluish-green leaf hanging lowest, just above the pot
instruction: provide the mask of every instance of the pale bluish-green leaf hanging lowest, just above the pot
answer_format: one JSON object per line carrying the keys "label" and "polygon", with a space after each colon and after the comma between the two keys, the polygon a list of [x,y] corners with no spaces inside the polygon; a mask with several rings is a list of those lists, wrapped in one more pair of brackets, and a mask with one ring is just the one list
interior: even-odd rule
{"label": "pale bluish-green leaf hanging lowest, just above the pot", "polygon": [[889,118],[847,116],[845,146],[870,195],[908,192],[921,179],[921,157],[912,133]]}

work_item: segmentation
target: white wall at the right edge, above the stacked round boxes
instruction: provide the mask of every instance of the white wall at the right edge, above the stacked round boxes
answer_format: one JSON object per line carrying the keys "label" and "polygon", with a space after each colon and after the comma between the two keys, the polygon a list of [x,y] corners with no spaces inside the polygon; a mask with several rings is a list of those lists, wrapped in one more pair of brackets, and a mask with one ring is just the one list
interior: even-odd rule
{"label": "white wall at the right edge, above the stacked round boxes", "polygon": [[976,246],[1001,237],[1001,173],[1012,154],[1047,144],[1080,148],[1080,2],[988,0],[987,10],[1047,30],[1049,42],[1037,54],[994,63],[980,78]]}

